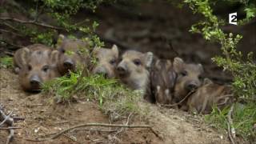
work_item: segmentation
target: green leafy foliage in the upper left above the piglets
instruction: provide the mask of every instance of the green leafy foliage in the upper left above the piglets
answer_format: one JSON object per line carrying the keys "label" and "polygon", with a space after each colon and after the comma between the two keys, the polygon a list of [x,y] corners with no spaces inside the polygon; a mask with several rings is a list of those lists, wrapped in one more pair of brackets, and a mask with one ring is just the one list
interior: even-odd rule
{"label": "green leafy foliage in the upper left above the piglets", "polygon": [[[85,18],[81,22],[74,22],[73,16],[79,10],[95,11],[103,0],[34,0],[29,2],[6,1],[2,2],[0,14],[14,14],[26,17],[26,21],[20,18],[1,17],[3,29],[14,36],[30,38],[32,43],[42,43],[48,46],[54,45],[54,36],[61,33],[82,33],[85,37],[96,37],[93,32],[98,26],[97,22],[90,22]],[[111,2],[111,1],[107,1]],[[26,5],[24,5],[26,3]],[[43,19],[43,20],[42,20]],[[94,36],[93,36],[94,35]],[[10,39],[2,38],[2,42],[8,44]],[[14,43],[15,44],[15,43]]]}

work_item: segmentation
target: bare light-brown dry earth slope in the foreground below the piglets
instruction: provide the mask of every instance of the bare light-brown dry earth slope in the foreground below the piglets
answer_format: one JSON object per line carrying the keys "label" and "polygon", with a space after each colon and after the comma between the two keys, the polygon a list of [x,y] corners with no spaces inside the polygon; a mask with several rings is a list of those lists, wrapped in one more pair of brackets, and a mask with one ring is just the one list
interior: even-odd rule
{"label": "bare light-brown dry earth slope in the foreground below the piglets", "polygon": [[[0,103],[6,113],[26,118],[15,122],[12,143],[166,143],[166,144],[207,144],[229,143],[226,135],[219,134],[202,122],[202,118],[179,110],[166,109],[141,102],[149,113],[146,118],[133,118],[131,124],[149,124],[155,135],[148,129],[129,129],[116,132],[92,130],[72,131],[46,142],[31,142],[26,139],[40,138],[79,124],[99,122],[110,123],[106,114],[94,102],[78,101],[70,105],[54,104],[52,98],[44,94],[28,94],[18,85],[18,76],[11,70],[0,70]],[[122,122],[115,122],[122,123]],[[93,127],[100,130],[115,130],[106,127]],[[0,143],[6,141],[8,132],[0,130]],[[118,140],[114,138],[118,138]],[[74,141],[76,139],[76,142]]]}

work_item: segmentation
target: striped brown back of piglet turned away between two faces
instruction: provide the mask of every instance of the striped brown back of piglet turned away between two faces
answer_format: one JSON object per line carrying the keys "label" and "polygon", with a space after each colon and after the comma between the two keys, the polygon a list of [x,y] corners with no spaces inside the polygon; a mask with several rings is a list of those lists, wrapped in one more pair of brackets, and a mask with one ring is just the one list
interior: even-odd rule
{"label": "striped brown back of piglet turned away between two faces", "polygon": [[173,89],[176,74],[170,60],[157,59],[150,72],[150,87],[159,104],[173,103]]}

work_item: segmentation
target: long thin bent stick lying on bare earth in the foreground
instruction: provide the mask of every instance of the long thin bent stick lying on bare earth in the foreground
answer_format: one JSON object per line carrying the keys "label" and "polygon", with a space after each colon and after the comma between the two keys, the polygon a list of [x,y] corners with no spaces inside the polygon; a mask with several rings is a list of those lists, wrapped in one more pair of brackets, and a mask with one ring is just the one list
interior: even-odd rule
{"label": "long thin bent stick lying on bare earth in the foreground", "polygon": [[[85,126],[105,126],[105,127],[126,127],[126,128],[148,128],[152,130],[152,132],[155,134],[154,130],[152,129],[152,126],[149,125],[120,125],[120,124],[106,124],[106,123],[86,123],[78,126],[72,126],[70,128],[67,128],[65,130],[61,130],[58,133],[55,133],[54,136],[50,138],[42,138],[42,139],[25,139],[27,141],[32,142],[42,142],[42,141],[48,141],[54,138],[58,138],[60,135],[65,134],[69,130],[74,130],[79,127],[85,127]],[[158,134],[157,134],[158,135]]]}

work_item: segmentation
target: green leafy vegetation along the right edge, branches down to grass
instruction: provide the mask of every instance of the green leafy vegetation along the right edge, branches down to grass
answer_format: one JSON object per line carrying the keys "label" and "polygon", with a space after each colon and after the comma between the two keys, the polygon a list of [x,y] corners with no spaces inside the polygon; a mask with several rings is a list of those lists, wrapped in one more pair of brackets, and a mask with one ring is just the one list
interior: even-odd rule
{"label": "green leafy vegetation along the right edge, branches down to grass", "polygon": [[[190,6],[194,13],[204,16],[201,22],[191,26],[190,32],[202,34],[206,40],[218,42],[221,45],[222,55],[212,59],[234,77],[232,90],[237,100],[234,103],[234,110],[226,108],[220,111],[214,108],[213,112],[206,116],[206,122],[222,130],[227,130],[228,125],[231,125],[230,127],[234,128],[236,134],[242,135],[246,140],[256,138],[253,131],[253,126],[256,123],[256,65],[254,54],[251,52],[246,54],[246,58],[243,58],[242,52],[236,50],[242,35],[223,32],[220,26],[224,26],[226,22],[213,14],[211,5],[214,5],[214,2],[211,3],[208,0],[185,0],[184,2]],[[239,2],[245,5],[246,12],[246,18],[238,22],[239,25],[242,25],[250,22],[256,16],[256,6],[252,2],[249,3],[250,1]],[[239,102],[242,102],[243,105],[241,106]],[[233,124],[228,122],[229,111],[233,111],[233,114],[231,114]]]}

